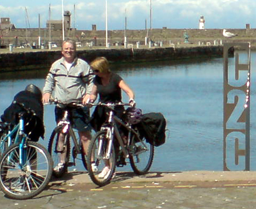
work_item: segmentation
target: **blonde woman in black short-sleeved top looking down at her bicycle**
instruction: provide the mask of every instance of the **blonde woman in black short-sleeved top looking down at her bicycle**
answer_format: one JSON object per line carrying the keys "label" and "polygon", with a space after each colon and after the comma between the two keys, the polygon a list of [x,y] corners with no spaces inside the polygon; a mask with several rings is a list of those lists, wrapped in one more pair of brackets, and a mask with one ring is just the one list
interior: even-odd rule
{"label": "blonde woman in black short-sleeved top looking down at her bicycle", "polygon": [[[100,57],[96,58],[90,64],[95,78],[93,80],[93,89],[90,95],[89,103],[93,103],[97,94],[99,94],[99,102],[102,103],[116,103],[122,102],[122,90],[129,97],[129,103],[132,105],[134,102],[134,93],[131,88],[127,84],[125,84],[122,77],[111,72],[109,70],[109,63],[106,58]],[[92,114],[92,127],[95,131],[100,130],[102,124],[106,121],[106,109],[104,107],[96,107],[95,111]],[[124,113],[124,107],[119,106],[115,108],[116,116],[122,118],[122,114]],[[109,174],[109,161],[106,161],[106,167],[99,174],[99,178],[104,178]],[[92,166],[94,166],[92,164]]]}

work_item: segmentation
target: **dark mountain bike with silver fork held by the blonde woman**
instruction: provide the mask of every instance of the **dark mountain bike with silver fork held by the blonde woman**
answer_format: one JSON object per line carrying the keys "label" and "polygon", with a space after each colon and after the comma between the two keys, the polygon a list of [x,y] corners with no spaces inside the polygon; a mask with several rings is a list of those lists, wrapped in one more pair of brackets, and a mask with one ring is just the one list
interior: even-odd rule
{"label": "dark mountain bike with silver fork held by the blonde woman", "polygon": [[[115,116],[116,106],[131,105],[124,103],[92,105],[104,106],[109,109],[108,120],[93,136],[88,148],[87,165],[92,181],[99,186],[107,185],[115,173],[116,164],[124,165],[126,164],[124,160],[128,158],[134,173],[146,174],[153,162],[154,146],[148,143],[145,137],[140,137],[136,125],[131,125]],[[123,129],[127,130],[125,131],[128,133],[126,138]],[[116,143],[118,146],[115,145]],[[97,171],[92,169],[92,164],[96,164]],[[106,165],[109,169],[106,169]]]}

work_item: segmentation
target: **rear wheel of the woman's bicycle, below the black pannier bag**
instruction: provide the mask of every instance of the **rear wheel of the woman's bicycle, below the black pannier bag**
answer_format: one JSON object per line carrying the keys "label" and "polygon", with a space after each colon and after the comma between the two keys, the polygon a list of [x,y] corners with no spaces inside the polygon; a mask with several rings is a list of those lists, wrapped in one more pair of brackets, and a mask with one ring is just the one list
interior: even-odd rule
{"label": "rear wheel of the woman's bicycle, below the black pannier bag", "polygon": [[[143,145],[143,143],[147,148]],[[147,143],[145,137],[139,141],[136,135],[132,134],[129,146],[129,159],[134,173],[143,175],[148,173],[154,158],[154,146]]]}

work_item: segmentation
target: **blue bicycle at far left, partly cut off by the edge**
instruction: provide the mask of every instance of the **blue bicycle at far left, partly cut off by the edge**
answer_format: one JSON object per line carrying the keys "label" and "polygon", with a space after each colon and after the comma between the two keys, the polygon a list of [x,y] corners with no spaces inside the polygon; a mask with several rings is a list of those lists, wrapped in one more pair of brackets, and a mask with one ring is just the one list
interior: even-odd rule
{"label": "blue bicycle at far left, partly cut off by the edge", "polygon": [[40,194],[50,182],[52,159],[44,146],[31,141],[24,132],[28,123],[35,123],[35,112],[15,104],[23,109],[19,123],[14,127],[0,123],[0,188],[12,199],[29,199]]}

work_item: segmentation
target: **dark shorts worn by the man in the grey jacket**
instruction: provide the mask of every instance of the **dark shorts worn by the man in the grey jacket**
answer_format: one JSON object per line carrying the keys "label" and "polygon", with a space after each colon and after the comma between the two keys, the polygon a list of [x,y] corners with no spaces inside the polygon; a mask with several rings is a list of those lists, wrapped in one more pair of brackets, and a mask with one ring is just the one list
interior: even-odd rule
{"label": "dark shorts worn by the man in the grey jacket", "polygon": [[[66,108],[55,107],[56,123],[61,120]],[[90,131],[90,109],[88,107],[67,108],[73,128],[79,132]]]}

